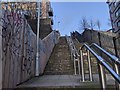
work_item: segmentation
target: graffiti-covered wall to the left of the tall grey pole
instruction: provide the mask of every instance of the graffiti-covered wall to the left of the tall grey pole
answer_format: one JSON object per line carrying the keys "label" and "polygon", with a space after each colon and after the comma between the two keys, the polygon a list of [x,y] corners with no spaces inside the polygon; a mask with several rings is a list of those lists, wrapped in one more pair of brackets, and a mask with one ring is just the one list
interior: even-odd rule
{"label": "graffiti-covered wall to the left of the tall grey pole", "polygon": [[[0,22],[2,23],[0,26],[2,27],[3,46],[3,87],[8,88],[10,85],[15,86],[34,75],[36,47],[32,43],[36,36],[33,35],[26,19],[21,14],[6,10],[3,12]],[[17,80],[18,77],[20,78],[19,81]],[[6,83],[9,86],[6,86]]]}

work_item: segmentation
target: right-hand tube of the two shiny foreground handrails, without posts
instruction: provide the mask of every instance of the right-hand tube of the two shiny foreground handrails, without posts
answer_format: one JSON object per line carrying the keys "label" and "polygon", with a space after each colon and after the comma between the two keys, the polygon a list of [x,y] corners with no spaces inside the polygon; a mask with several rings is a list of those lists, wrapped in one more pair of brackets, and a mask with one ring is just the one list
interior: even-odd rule
{"label": "right-hand tube of the two shiny foreground handrails, without posts", "polygon": [[101,50],[104,54],[106,54],[108,57],[110,57],[116,64],[120,64],[120,60],[118,57],[116,57],[115,55],[110,54],[109,52],[107,52],[106,50],[104,50],[103,48],[101,48],[99,45],[97,45],[96,43],[92,43],[90,45],[90,47],[95,46],[97,47],[99,50]]}

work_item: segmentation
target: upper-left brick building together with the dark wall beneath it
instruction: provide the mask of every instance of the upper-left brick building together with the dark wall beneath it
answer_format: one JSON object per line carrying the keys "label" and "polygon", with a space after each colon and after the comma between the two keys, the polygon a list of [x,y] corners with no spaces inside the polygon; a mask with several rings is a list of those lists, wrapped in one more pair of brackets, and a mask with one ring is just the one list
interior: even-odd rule
{"label": "upper-left brick building together with the dark wall beneath it", "polygon": [[[37,34],[38,21],[38,3],[37,2],[2,2],[2,11],[15,12],[24,15],[31,26],[33,32]],[[53,10],[50,0],[40,2],[40,30],[39,37],[43,39],[52,32]]]}

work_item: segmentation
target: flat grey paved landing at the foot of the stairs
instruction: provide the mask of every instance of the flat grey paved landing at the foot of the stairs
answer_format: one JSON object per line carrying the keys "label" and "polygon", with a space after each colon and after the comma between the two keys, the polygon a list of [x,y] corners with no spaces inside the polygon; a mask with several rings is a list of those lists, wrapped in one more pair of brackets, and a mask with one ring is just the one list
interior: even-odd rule
{"label": "flat grey paved landing at the foot of the stairs", "polygon": [[[88,76],[86,76],[88,77]],[[37,90],[41,89],[50,89],[50,90],[67,90],[67,89],[89,89],[89,90],[100,90],[100,84],[98,80],[98,74],[94,74],[94,81],[85,81],[81,82],[80,75],[43,75],[40,77],[32,78],[31,80],[19,85],[17,90],[19,89],[30,89],[34,88]],[[107,78],[107,87],[110,89],[107,90],[115,90],[114,81],[109,76]]]}

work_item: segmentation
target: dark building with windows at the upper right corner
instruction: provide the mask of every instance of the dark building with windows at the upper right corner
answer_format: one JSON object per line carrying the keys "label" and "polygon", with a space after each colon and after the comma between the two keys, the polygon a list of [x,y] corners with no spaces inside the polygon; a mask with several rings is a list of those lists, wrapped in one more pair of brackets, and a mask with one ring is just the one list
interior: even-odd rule
{"label": "dark building with windows at the upper right corner", "polygon": [[108,0],[111,24],[114,33],[120,33],[120,0]]}

